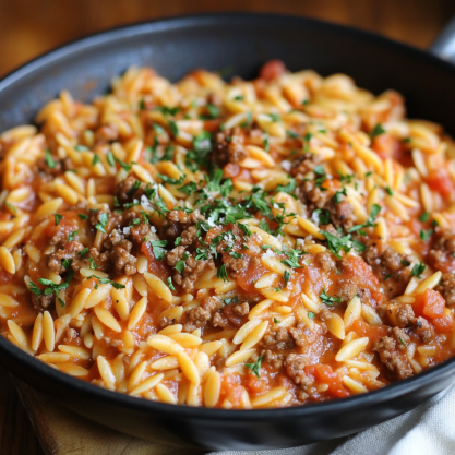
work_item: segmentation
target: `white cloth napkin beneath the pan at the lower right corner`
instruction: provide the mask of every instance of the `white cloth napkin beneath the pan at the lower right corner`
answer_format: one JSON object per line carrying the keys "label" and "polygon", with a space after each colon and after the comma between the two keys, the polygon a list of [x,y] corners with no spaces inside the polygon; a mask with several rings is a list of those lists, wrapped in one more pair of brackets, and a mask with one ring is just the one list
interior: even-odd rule
{"label": "white cloth napkin beneath the pan at the lower right corner", "polygon": [[454,455],[455,385],[416,409],[352,436],[276,451],[209,455]]}

